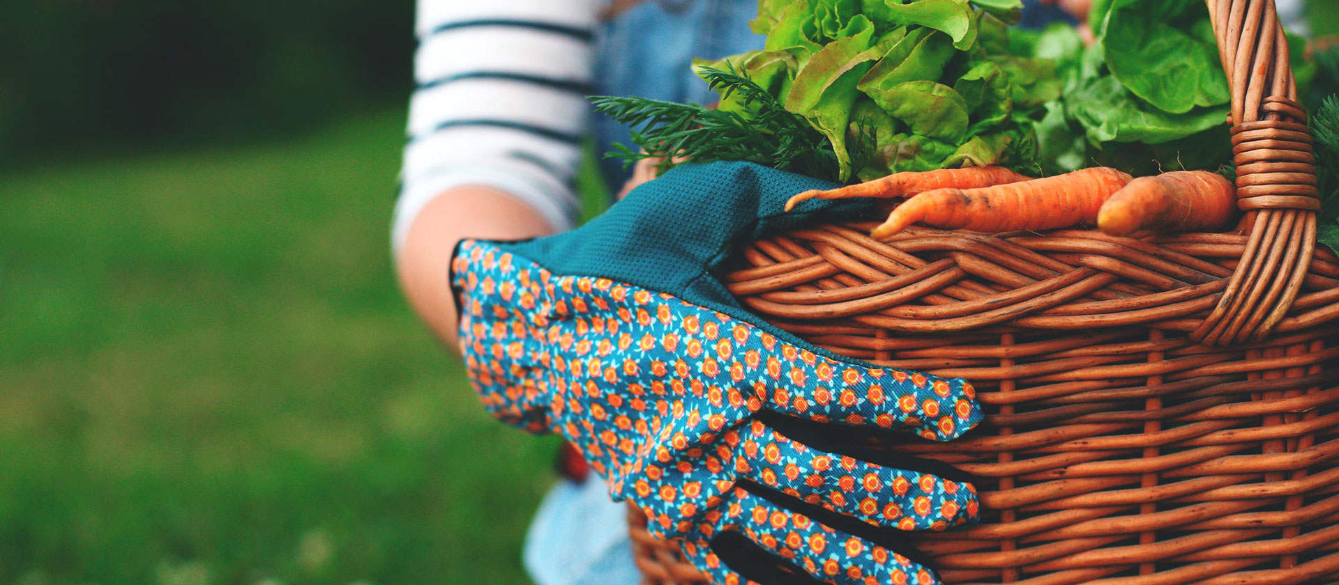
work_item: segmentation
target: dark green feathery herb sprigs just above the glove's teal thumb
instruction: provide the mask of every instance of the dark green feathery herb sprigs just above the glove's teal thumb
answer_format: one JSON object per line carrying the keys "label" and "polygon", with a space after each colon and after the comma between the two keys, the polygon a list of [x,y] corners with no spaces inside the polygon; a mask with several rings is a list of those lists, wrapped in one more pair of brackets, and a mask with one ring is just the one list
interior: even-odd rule
{"label": "dark green feathery herb sprigs just above the glove's teal thumb", "polygon": [[632,128],[635,151],[615,144],[607,156],[635,163],[657,158],[665,171],[675,158],[694,162],[747,160],[783,171],[837,180],[837,155],[828,138],[787,111],[766,89],[735,71],[703,67],[702,76],[724,96],[738,93],[755,116],[645,98],[592,98],[595,110]]}

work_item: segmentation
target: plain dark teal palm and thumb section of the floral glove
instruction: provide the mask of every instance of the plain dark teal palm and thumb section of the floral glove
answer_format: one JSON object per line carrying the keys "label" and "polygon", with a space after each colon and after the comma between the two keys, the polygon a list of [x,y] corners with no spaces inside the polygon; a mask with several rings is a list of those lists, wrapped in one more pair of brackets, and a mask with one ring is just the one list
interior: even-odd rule
{"label": "plain dark teal palm and thumb section of the floral glove", "polygon": [[498,247],[558,275],[603,276],[754,321],[775,337],[807,343],[757,319],[719,274],[738,246],[805,224],[874,210],[866,199],[810,200],[786,212],[791,195],[836,183],[753,163],[675,167],[577,230]]}

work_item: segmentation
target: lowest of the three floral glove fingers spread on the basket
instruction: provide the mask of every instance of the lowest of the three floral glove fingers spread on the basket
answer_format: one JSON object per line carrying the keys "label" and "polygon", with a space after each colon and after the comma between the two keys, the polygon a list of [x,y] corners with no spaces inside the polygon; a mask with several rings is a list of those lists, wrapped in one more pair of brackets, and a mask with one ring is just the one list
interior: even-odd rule
{"label": "lowest of the three floral glove fingers spread on the basket", "polygon": [[[939,584],[927,566],[850,533],[786,510],[744,489],[735,490],[738,516],[724,532],[738,532],[799,570],[840,585]],[[718,536],[719,538],[719,536]],[[715,541],[712,541],[715,542]]]}

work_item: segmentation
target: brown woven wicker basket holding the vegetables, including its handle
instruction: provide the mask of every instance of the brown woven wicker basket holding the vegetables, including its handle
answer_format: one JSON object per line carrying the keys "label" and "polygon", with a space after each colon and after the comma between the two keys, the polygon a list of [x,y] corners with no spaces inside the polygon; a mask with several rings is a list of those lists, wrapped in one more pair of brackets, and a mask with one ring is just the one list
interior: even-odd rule
{"label": "brown woven wicker basket holding the vegetables, including its handle", "polygon": [[[897,447],[983,478],[981,524],[920,542],[947,582],[1339,582],[1339,258],[1273,1],[1209,11],[1237,232],[815,226],[726,278],[821,347],[980,389],[980,429]],[[706,582],[629,518],[647,582]]]}

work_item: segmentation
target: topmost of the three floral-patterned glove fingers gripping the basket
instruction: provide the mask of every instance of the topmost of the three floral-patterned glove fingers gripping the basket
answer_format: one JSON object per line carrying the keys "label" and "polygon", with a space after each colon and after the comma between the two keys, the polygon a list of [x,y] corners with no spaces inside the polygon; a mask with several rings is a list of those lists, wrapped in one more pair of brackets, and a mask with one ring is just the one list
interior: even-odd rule
{"label": "topmost of the three floral-patterned glove fingers gripping the basket", "polygon": [[967,381],[840,362],[762,334],[763,346],[769,341],[781,346],[763,365],[771,379],[755,385],[769,410],[817,422],[911,430],[931,441],[957,438],[984,418]]}

